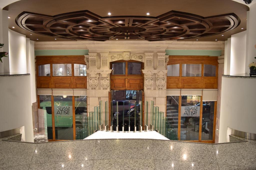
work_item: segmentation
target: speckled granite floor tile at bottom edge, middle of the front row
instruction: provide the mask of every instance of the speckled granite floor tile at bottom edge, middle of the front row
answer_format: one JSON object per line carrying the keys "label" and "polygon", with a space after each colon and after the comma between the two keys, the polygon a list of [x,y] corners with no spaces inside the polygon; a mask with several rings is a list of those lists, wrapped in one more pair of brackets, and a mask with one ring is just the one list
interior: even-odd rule
{"label": "speckled granite floor tile at bottom edge, middle of the front row", "polygon": [[154,160],[150,159],[104,159],[94,160],[93,169],[154,169]]}

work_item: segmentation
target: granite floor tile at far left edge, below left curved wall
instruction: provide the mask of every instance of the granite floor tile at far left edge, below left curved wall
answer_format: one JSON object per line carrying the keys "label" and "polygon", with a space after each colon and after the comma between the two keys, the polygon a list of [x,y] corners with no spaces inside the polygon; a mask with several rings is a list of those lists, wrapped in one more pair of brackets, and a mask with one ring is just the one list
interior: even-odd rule
{"label": "granite floor tile at far left edge, below left curved wall", "polygon": [[34,143],[1,141],[0,167],[30,164],[36,145]]}

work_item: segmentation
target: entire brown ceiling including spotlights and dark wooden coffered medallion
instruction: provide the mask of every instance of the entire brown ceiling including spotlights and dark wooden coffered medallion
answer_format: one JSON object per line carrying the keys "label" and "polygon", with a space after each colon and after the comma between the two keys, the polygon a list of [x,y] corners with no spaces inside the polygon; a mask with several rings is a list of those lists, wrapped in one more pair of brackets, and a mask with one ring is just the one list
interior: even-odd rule
{"label": "entire brown ceiling including spotlights and dark wooden coffered medallion", "polygon": [[224,41],[246,30],[249,8],[231,0],[21,0],[4,10],[9,29],[34,41]]}

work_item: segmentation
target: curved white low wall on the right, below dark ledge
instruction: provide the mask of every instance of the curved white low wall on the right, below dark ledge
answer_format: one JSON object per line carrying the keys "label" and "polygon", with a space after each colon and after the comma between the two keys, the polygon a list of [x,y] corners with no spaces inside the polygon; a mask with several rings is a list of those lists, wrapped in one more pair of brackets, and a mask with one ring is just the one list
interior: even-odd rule
{"label": "curved white low wall on the right, below dark ledge", "polygon": [[219,142],[227,142],[227,127],[256,134],[256,79],[222,77]]}

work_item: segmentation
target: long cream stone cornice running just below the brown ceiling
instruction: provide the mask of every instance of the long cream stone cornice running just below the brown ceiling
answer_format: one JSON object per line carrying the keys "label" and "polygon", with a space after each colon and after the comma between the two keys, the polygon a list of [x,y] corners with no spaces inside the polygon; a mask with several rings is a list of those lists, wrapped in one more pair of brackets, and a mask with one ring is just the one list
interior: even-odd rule
{"label": "long cream stone cornice running just below the brown ceiling", "polygon": [[35,49],[89,49],[90,52],[126,51],[125,49],[223,50],[224,45],[224,41],[61,41],[35,42]]}

